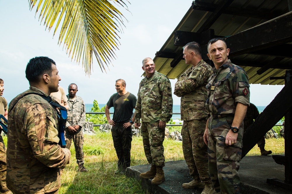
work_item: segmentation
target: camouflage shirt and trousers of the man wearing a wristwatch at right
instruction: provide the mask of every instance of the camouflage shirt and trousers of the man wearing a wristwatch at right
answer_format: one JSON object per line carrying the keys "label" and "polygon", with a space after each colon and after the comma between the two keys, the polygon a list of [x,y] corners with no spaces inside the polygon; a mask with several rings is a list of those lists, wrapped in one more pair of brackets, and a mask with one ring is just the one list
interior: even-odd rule
{"label": "camouflage shirt and trousers of the man wearing a wristwatch at right", "polygon": [[[227,60],[218,70],[212,68],[206,88],[206,109],[209,118],[209,172],[217,193],[240,193],[239,161],[241,160],[244,124],[239,127],[237,142],[225,145],[225,139],[234,119],[237,103],[249,106],[247,73]],[[221,190],[221,191],[220,191]]]}

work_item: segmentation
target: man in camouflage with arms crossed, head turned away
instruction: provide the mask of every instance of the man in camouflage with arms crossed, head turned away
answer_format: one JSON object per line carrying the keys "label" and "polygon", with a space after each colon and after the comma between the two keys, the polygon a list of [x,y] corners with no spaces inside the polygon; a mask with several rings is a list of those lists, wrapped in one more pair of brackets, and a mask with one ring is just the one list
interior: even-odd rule
{"label": "man in camouflage with arms crossed, head turned away", "polygon": [[174,94],[180,99],[181,120],[183,120],[183,154],[193,180],[184,183],[183,188],[204,188],[201,194],[214,193],[208,170],[208,146],[204,143],[208,78],[211,66],[201,57],[201,47],[190,42],[183,47],[183,58],[187,69],[175,83]]}

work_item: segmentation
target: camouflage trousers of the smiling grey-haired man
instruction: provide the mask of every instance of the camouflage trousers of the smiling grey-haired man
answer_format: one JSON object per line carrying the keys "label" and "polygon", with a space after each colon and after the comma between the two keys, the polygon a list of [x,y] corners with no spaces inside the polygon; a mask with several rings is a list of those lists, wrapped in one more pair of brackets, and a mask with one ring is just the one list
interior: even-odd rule
{"label": "camouflage trousers of the smiling grey-haired man", "polygon": [[159,128],[159,120],[154,122],[142,122],[141,124],[144,152],[147,161],[156,166],[164,166],[163,141],[165,129]]}

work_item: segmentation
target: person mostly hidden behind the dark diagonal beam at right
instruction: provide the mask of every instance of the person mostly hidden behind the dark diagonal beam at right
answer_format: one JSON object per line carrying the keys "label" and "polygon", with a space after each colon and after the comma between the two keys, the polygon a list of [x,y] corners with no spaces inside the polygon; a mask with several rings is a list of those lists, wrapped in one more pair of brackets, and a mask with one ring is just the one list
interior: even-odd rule
{"label": "person mostly hidden behind the dark diagonal beam at right", "polygon": [[[250,106],[247,108],[246,111],[246,117],[244,118],[244,132],[246,132],[247,128],[249,126],[251,126],[253,124],[253,120],[256,119],[258,117],[258,115],[260,115],[260,113],[258,112],[258,108],[256,107],[256,105],[250,103]],[[269,150],[265,150],[265,137],[260,138],[260,140],[258,141],[258,147],[260,148],[260,154],[262,156],[266,156],[269,154],[272,154],[272,151]]]}

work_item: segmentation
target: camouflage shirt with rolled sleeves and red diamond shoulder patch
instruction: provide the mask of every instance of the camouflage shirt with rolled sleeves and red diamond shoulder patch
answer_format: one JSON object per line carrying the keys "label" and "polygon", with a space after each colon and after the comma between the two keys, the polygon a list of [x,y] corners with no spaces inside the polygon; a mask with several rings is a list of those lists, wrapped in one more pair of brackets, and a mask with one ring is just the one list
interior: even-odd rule
{"label": "camouflage shirt with rolled sleeves and red diamond shoulder patch", "polygon": [[249,106],[249,84],[247,73],[230,60],[215,67],[208,80],[206,109],[212,115],[234,115],[237,102]]}

